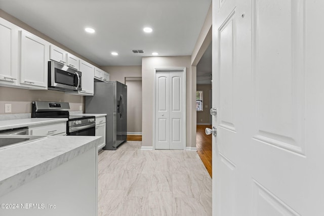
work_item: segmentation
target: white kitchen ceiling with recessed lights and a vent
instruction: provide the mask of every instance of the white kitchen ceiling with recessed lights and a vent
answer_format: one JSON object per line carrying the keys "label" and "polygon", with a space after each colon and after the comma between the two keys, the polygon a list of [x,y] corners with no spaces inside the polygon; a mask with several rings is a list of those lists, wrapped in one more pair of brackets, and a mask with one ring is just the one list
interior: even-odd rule
{"label": "white kitchen ceiling with recessed lights and a vent", "polygon": [[[191,55],[211,0],[0,0],[0,8],[100,66]],[[149,26],[153,32],[143,32]],[[96,30],[94,34],[85,27]],[[133,54],[132,50],[144,50]],[[118,56],[112,56],[117,52]]]}

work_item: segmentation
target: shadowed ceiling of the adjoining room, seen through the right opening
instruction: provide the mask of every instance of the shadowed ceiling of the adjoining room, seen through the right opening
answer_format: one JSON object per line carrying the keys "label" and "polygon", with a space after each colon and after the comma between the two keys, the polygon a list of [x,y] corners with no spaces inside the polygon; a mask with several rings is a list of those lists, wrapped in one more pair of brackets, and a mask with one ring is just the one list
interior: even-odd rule
{"label": "shadowed ceiling of the adjoining room, seen through the right opening", "polygon": [[197,64],[197,84],[212,84],[212,43]]}

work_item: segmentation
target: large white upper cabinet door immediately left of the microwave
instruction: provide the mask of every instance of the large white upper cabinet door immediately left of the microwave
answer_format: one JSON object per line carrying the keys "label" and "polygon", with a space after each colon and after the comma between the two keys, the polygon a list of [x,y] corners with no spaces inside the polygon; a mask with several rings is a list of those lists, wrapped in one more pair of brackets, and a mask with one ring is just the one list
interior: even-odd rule
{"label": "large white upper cabinet door immediately left of the microwave", "polygon": [[49,42],[24,30],[19,33],[21,86],[47,89]]}

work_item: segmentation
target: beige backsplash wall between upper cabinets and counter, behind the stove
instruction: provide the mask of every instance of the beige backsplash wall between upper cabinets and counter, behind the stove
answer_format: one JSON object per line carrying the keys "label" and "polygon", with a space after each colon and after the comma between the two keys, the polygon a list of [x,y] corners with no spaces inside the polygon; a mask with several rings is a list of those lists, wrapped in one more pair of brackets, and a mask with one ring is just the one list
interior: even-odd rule
{"label": "beige backsplash wall between upper cabinets and counter, behind the stove", "polygon": [[[63,92],[51,90],[0,87],[0,114],[31,113],[32,101],[69,102],[71,111],[79,110],[79,106],[82,106],[82,110],[84,110],[84,98],[82,96],[67,95]],[[5,104],[11,104],[11,113],[5,113]]]}

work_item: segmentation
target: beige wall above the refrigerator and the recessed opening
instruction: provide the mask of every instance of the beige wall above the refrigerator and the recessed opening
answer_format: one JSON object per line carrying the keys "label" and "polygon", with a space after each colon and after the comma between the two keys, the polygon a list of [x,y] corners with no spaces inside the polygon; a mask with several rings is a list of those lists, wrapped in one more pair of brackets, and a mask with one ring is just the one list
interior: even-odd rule
{"label": "beige wall above the refrigerator and the recessed opening", "polygon": [[110,74],[111,81],[125,84],[125,77],[142,77],[142,66],[102,66]]}

